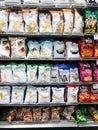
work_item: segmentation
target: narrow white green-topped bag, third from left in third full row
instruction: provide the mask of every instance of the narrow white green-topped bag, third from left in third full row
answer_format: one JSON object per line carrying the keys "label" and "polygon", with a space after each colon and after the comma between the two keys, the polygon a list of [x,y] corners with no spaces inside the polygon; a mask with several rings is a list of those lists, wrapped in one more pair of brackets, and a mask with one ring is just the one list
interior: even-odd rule
{"label": "narrow white green-topped bag, third from left in third full row", "polygon": [[37,83],[37,66],[27,65],[27,82]]}

